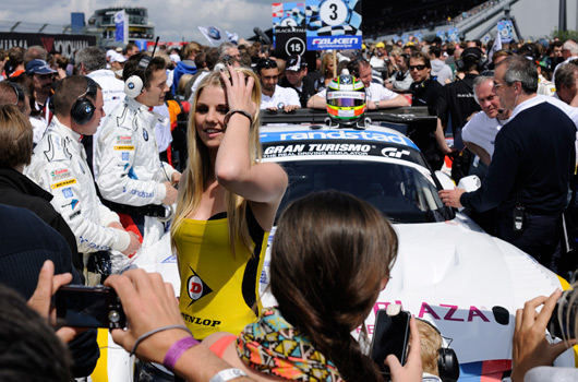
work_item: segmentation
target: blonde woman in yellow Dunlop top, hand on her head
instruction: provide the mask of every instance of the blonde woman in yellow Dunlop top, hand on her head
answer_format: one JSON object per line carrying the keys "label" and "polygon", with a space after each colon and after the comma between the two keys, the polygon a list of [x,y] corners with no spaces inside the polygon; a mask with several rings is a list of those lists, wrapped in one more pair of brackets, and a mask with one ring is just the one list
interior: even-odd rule
{"label": "blonde woman in yellow Dunlop top, hand on her head", "polygon": [[198,339],[240,333],[261,309],[258,279],[287,175],[258,163],[260,99],[255,74],[230,65],[203,79],[195,94],[171,234],[181,313]]}

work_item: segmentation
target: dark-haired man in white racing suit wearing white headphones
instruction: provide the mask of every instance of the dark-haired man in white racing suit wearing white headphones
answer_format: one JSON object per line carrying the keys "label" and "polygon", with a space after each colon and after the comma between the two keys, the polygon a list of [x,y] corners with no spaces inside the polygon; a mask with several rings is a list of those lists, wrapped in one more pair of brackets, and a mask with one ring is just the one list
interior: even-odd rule
{"label": "dark-haired man in white racing suit wearing white headphones", "polygon": [[[144,58],[143,58],[144,57]],[[154,127],[168,122],[153,111],[165,103],[167,74],[161,58],[143,53],[124,65],[128,97],[105,120],[99,132],[95,167],[103,202],[119,213],[124,227],[148,247],[165,232],[165,206],[177,200],[180,174],[161,163]],[[160,219],[159,219],[160,218]]]}

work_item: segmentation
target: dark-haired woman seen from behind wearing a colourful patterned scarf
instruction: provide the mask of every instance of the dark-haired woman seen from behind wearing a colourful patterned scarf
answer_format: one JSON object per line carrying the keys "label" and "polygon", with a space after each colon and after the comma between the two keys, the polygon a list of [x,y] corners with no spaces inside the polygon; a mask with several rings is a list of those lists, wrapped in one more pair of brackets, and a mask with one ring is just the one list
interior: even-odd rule
{"label": "dark-haired woman seen from behind wearing a colourful patterned scarf", "polygon": [[[239,336],[203,344],[256,381],[382,381],[351,332],[363,325],[389,277],[397,236],[366,202],[336,191],[293,202],[273,241],[270,290],[278,306]],[[411,319],[406,366],[386,363],[393,381],[421,381],[420,339]]]}

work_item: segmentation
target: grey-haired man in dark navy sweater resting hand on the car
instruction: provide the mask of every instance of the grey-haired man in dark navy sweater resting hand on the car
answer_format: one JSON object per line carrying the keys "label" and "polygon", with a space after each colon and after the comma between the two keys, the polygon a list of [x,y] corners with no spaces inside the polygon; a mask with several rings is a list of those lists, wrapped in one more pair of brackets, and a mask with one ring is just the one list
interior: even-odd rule
{"label": "grey-haired man in dark navy sweater resting hand on the car", "polygon": [[487,176],[474,192],[456,188],[439,196],[448,206],[475,212],[497,206],[497,237],[556,272],[562,212],[576,167],[576,126],[537,89],[531,61],[513,56],[497,65],[494,92],[513,112],[496,135]]}

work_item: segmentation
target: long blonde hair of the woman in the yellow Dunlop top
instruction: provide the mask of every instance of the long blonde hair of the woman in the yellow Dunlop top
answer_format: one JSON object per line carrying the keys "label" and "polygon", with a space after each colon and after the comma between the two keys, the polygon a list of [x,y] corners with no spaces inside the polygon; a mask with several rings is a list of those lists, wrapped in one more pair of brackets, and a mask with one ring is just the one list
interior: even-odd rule
{"label": "long blonde hair of the woman in the yellow Dunlop top", "polygon": [[[253,124],[249,133],[249,155],[251,164],[261,160],[262,150],[258,139],[258,126],[260,126],[260,105],[261,105],[261,85],[257,76],[253,71],[246,68],[237,68],[238,72],[242,72],[245,76],[252,76],[255,81],[251,98],[256,104],[257,108],[253,116]],[[191,116],[189,117],[189,127],[186,133],[189,163],[185,170],[182,174],[181,181],[179,182],[179,196],[177,199],[177,211],[174,213],[174,220],[172,222],[170,232],[171,237],[174,238],[174,234],[184,222],[186,216],[193,214],[201,205],[201,199],[205,189],[206,182],[209,180],[210,175],[214,174],[215,169],[210,168],[210,156],[208,148],[201,141],[196,133],[195,127],[195,111],[196,104],[201,93],[206,87],[220,86],[226,91],[225,83],[219,72],[212,72],[203,79],[198,88],[196,89],[193,108]],[[249,229],[245,222],[245,208],[246,200],[239,196],[228,190],[225,190],[225,205],[227,207],[227,217],[229,224],[229,238],[231,249],[234,254],[234,243],[237,240],[241,240],[241,243],[252,251],[253,243],[249,236]],[[176,248],[174,240],[172,240],[173,249]]]}

